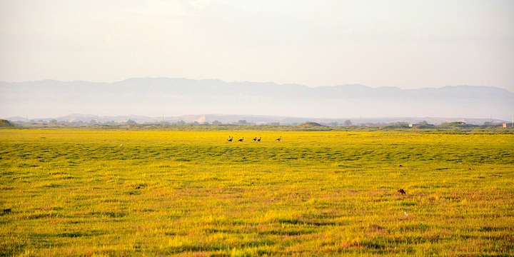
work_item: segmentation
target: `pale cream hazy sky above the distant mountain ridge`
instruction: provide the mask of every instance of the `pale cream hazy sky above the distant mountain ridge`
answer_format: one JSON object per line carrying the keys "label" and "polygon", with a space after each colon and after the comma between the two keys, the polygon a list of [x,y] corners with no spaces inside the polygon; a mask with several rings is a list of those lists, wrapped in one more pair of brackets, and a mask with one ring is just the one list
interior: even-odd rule
{"label": "pale cream hazy sky above the distant mountain ridge", "polygon": [[0,0],[0,81],[514,91],[511,0]]}

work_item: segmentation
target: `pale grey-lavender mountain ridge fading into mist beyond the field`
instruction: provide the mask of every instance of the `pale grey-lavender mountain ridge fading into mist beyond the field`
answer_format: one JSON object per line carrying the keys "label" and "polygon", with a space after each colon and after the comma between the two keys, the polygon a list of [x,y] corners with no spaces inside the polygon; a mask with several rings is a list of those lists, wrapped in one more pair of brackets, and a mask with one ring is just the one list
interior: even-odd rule
{"label": "pale grey-lavender mountain ridge fading into mist beyond the field", "polygon": [[371,88],[359,84],[308,87],[216,79],[135,78],[0,82],[0,116],[58,117],[70,113],[119,116],[236,114],[313,117],[468,117],[510,120],[514,94],[491,86]]}

